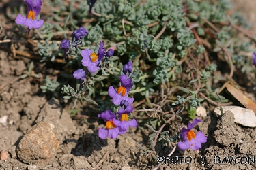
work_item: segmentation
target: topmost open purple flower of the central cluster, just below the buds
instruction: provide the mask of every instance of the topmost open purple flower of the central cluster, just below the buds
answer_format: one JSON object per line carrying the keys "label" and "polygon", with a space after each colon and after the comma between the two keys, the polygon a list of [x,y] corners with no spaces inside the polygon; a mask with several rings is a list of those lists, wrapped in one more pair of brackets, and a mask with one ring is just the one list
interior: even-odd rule
{"label": "topmost open purple flower of the central cluster, just below the buds", "polygon": [[121,75],[119,79],[121,82],[121,86],[117,89],[117,91],[113,86],[110,86],[108,90],[109,96],[113,98],[112,103],[114,103],[115,105],[120,105],[122,100],[126,100],[128,101],[129,105],[131,105],[134,99],[133,97],[128,97],[128,92],[130,91],[130,88],[132,88],[133,86],[132,80],[130,78],[127,78],[127,76],[124,74]]}

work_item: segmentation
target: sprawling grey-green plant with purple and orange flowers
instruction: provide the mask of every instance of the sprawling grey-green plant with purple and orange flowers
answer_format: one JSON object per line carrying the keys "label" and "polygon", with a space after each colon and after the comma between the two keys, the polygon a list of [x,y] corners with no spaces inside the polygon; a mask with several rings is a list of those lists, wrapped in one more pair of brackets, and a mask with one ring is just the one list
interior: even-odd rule
{"label": "sprawling grey-green plant with purple and orange flowers", "polygon": [[[226,84],[255,71],[255,37],[244,31],[248,24],[240,14],[229,16],[227,0],[48,1],[46,20],[37,20],[42,1],[25,2],[26,17],[18,14],[15,21],[36,29],[26,39],[38,49],[30,57],[57,65],[57,78],[44,76],[42,91],[59,97],[63,84],[72,109],[78,101],[96,105],[97,118],[106,123],[98,129],[101,139],[117,139],[129,127],[150,129],[148,143],[138,146],[149,160],[157,160],[157,145],[200,150],[207,137],[192,130],[201,121],[197,107],[231,105]],[[236,37],[240,31],[251,41]],[[179,122],[188,120],[193,123],[180,135]]]}

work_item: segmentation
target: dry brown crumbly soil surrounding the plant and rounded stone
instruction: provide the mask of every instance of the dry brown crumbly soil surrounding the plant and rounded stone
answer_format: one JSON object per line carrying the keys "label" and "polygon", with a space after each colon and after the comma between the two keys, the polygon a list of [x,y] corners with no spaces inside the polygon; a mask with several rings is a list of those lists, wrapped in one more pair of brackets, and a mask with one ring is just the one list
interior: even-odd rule
{"label": "dry brown crumbly soil surrounding the plant and rounded stone", "polygon": [[[238,1],[240,0],[235,2]],[[6,1],[0,2],[0,20],[6,21],[1,12],[4,3]],[[235,8],[244,8],[248,13],[248,20],[255,20],[256,1],[247,0],[243,1],[242,6],[239,4],[235,4]],[[253,19],[250,16],[253,16]],[[61,97],[46,98],[39,88],[39,80],[20,79],[20,75],[27,70],[27,63],[26,58],[17,59],[12,53],[0,50],[0,151],[5,150],[10,155],[7,160],[0,160],[0,169],[128,170],[152,169],[156,166],[156,163],[147,160],[136,146],[139,144],[147,147],[151,133],[147,128],[139,125],[137,129],[130,129],[126,135],[119,135],[118,139],[100,139],[98,128],[104,127],[102,120],[96,119],[96,116],[86,120],[72,119],[68,115],[72,105]],[[44,65],[38,64],[38,70],[40,67]],[[96,112],[94,108],[85,108],[80,104],[76,108],[81,109],[81,114],[84,115]],[[175,150],[172,156],[184,157],[181,159],[182,163],[175,163],[177,157],[173,157],[173,163],[162,164],[159,169],[256,169],[255,128],[235,124],[231,112],[217,118],[210,111],[212,110],[208,109],[208,116],[201,118],[203,121],[196,126],[198,131],[208,137],[208,142],[203,143],[201,150]],[[44,159],[37,165],[29,165],[29,162],[24,163],[18,158],[17,146],[23,135],[33,125],[42,121],[53,127],[53,133],[59,141],[57,154],[47,165],[44,165]],[[181,129],[184,124],[179,126]],[[44,134],[44,131],[42,133]],[[162,147],[158,143],[156,151],[159,155],[167,155],[172,147]]]}

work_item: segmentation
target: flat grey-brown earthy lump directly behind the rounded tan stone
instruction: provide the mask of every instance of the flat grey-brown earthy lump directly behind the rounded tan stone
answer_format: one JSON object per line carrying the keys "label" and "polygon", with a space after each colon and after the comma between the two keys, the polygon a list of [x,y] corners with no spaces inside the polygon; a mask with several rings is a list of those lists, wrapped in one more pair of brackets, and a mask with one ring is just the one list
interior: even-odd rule
{"label": "flat grey-brown earthy lump directly behind the rounded tan stone", "polygon": [[63,143],[68,135],[72,135],[76,131],[70,115],[61,107],[57,99],[49,100],[42,107],[35,122],[47,122],[50,124],[60,144]]}

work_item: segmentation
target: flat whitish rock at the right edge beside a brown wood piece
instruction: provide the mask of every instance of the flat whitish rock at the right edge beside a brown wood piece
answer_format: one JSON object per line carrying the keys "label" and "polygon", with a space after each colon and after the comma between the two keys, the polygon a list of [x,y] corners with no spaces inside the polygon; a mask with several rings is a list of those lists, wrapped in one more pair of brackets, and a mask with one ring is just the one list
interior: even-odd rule
{"label": "flat whitish rock at the right edge beside a brown wood piece", "polygon": [[[238,124],[242,124],[243,126],[247,127],[255,127],[256,126],[256,116],[255,113],[251,109],[246,109],[238,106],[223,106],[223,113],[226,112],[227,110],[230,110],[234,117],[235,120],[234,122]],[[220,107],[215,107],[214,112],[218,115],[221,115],[221,109]]]}

